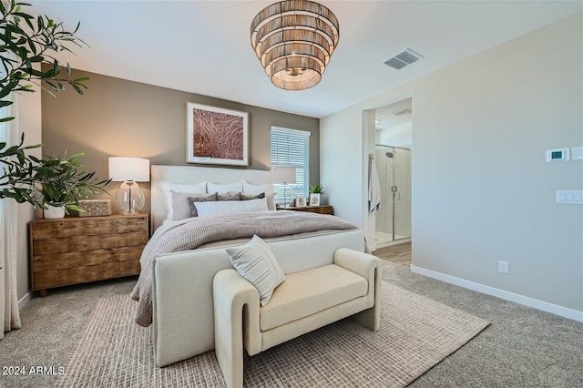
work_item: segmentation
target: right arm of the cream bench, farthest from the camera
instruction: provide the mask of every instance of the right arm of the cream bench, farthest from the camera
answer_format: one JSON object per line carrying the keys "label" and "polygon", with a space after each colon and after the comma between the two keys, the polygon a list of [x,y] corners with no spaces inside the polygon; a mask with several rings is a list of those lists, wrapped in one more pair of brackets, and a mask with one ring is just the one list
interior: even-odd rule
{"label": "right arm of the cream bench, farthest from the camera", "polygon": [[334,264],[352,271],[368,281],[367,298],[370,308],[354,315],[356,321],[373,331],[381,325],[381,286],[383,284],[383,262],[369,253],[348,248],[334,252]]}

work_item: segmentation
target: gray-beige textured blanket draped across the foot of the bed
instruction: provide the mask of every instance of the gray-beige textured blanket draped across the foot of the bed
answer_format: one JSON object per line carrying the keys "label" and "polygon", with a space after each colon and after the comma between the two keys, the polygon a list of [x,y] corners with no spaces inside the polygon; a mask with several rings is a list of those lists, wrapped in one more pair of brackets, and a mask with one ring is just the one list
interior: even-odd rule
{"label": "gray-beige textured blanket draped across the foot of the bed", "polygon": [[159,227],[139,260],[141,272],[131,297],[138,301],[135,321],[152,323],[152,260],[157,255],[194,250],[220,240],[280,237],[318,230],[352,230],[356,227],[334,216],[299,211],[253,211],[218,214],[172,221]]}

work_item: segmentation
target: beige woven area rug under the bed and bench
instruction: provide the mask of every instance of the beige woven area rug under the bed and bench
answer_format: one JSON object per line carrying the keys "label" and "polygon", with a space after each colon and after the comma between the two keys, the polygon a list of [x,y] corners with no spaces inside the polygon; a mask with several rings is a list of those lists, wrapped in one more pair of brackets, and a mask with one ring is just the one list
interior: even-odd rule
{"label": "beige woven area rug under the bed and bench", "polygon": [[[244,382],[255,387],[403,387],[489,324],[386,281],[381,329],[348,318],[245,355]],[[224,386],[214,352],[156,366],[149,328],[133,322],[129,296],[97,301],[55,387]]]}

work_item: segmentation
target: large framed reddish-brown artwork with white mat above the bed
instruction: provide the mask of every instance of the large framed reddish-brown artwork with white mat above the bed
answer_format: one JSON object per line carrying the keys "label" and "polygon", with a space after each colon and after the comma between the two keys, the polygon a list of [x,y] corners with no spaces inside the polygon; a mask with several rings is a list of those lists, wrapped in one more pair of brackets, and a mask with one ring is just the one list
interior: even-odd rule
{"label": "large framed reddish-brown artwork with white mat above the bed", "polygon": [[247,112],[187,102],[188,163],[249,166]]}

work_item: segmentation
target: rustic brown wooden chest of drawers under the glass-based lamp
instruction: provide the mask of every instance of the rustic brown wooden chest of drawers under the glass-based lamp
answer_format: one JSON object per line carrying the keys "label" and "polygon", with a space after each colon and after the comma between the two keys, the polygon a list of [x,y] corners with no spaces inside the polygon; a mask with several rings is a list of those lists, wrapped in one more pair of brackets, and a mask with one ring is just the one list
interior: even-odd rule
{"label": "rustic brown wooden chest of drawers under the glass-based lamp", "polygon": [[148,214],[32,220],[33,290],[138,275]]}

